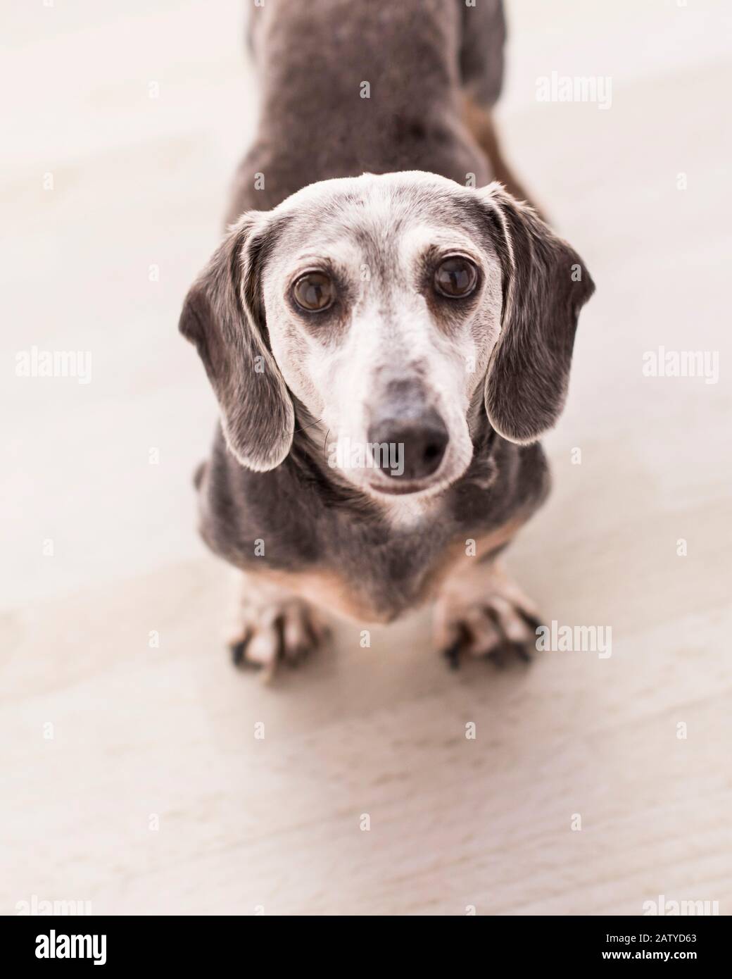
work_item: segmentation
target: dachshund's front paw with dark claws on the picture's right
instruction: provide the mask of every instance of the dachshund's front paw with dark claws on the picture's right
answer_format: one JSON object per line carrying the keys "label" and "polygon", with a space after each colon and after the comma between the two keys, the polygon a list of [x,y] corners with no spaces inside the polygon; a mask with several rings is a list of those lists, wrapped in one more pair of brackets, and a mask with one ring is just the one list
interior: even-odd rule
{"label": "dachshund's front paw with dark claws on the picture's right", "polygon": [[484,583],[483,594],[447,594],[436,607],[437,644],[448,666],[457,670],[463,656],[489,660],[497,667],[512,660],[530,663],[541,620],[533,603],[503,575]]}

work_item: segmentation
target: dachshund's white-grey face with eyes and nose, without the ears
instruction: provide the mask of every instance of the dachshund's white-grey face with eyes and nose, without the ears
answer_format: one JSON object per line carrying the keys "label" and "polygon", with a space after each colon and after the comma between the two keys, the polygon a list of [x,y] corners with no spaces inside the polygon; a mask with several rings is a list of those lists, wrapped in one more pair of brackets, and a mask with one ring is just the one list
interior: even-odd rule
{"label": "dachshund's white-grey face with eyes and nose, without the ears", "polygon": [[429,177],[312,185],[282,209],[262,270],[285,382],[329,433],[331,464],[369,492],[434,490],[471,459],[501,268],[459,198]]}

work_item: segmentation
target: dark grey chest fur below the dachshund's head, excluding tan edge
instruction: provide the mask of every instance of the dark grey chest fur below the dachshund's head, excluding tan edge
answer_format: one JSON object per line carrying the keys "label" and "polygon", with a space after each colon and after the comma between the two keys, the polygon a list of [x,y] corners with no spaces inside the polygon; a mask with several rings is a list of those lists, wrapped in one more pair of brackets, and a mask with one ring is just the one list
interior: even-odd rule
{"label": "dark grey chest fur below the dachshund's head, excluding tan edge", "polygon": [[[431,597],[445,548],[527,518],[546,498],[549,473],[538,443],[492,436],[484,414],[466,475],[447,489],[429,531],[394,527],[378,505],[334,482],[305,433],[268,473],[238,466],[217,435],[201,488],[201,530],[211,550],[244,571],[337,571],[353,594],[391,621]],[[255,556],[255,540],[266,542]]]}

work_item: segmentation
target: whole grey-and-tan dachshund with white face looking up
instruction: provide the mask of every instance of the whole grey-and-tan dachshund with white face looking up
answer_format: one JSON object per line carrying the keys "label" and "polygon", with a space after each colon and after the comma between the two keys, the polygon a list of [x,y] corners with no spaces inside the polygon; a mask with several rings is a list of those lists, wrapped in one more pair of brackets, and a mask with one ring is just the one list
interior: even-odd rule
{"label": "whole grey-and-tan dachshund with white face looking up", "polygon": [[[592,284],[501,188],[466,189],[505,166],[478,141],[495,150],[484,111],[500,90],[500,2],[267,0],[252,17],[262,115],[229,214],[245,216],[181,319],[222,405],[197,485],[206,542],[246,573],[236,655],[271,669],[313,645],[310,602],[368,625],[435,598],[453,656],[518,648],[534,610],[493,558],[548,491],[535,438],[561,410]],[[416,169],[428,173],[403,172]],[[300,251],[328,252],[345,297],[336,312],[305,313],[283,293],[308,234]],[[442,238],[480,269],[472,306],[410,284]],[[362,435],[384,403],[392,425],[429,409],[445,431],[435,476],[420,457],[403,495],[329,464],[334,425]]]}

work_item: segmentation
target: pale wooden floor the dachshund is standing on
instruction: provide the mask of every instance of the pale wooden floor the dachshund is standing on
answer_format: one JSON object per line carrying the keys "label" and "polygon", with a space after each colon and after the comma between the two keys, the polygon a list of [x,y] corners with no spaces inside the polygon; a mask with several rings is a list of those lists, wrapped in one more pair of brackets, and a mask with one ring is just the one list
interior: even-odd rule
{"label": "pale wooden floor the dachshund is standing on", "polygon": [[[176,334],[252,133],[239,5],[8,15],[0,911],[732,909],[724,7],[510,8],[509,154],[598,286],[510,564],[613,655],[453,675],[419,616],[270,689],[222,651],[190,485],[214,405]],[[612,108],[537,103],[552,70],[612,76]],[[92,350],[91,384],[17,378],[32,345]],[[718,350],[719,383],[644,377],[662,345]]]}

